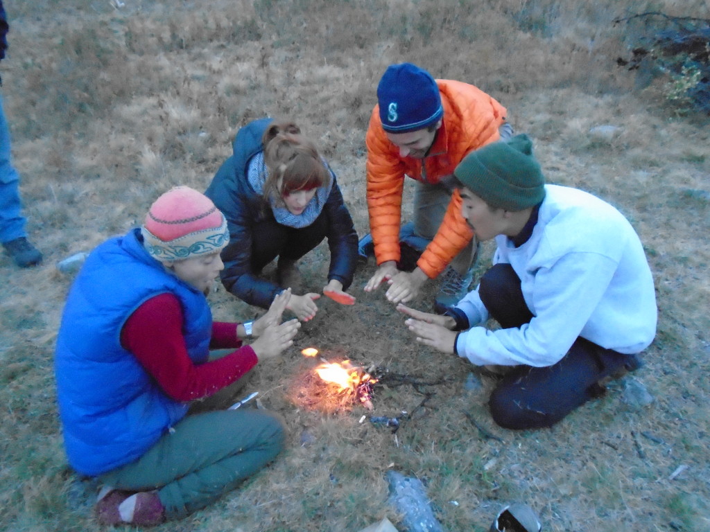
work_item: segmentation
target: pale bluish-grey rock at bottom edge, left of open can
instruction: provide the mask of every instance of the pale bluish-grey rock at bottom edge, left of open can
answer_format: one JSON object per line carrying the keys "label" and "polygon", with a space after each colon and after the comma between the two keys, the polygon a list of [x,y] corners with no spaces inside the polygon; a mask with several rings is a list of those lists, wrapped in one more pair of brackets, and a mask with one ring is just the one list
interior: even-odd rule
{"label": "pale bluish-grey rock at bottom edge, left of open can", "polygon": [[389,502],[403,515],[403,532],[443,532],[421,480],[393,470],[389,470],[386,477],[390,487]]}

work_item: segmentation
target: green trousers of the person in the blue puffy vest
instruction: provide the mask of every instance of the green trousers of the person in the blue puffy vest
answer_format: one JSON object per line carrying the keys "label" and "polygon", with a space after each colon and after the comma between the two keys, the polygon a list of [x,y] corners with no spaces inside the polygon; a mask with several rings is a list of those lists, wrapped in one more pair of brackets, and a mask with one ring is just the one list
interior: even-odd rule
{"label": "green trousers of the person in the blue puffy vest", "polygon": [[283,424],[263,411],[187,416],[141,458],[99,480],[127,492],[157,489],[165,519],[181,519],[261,470],[284,438]]}

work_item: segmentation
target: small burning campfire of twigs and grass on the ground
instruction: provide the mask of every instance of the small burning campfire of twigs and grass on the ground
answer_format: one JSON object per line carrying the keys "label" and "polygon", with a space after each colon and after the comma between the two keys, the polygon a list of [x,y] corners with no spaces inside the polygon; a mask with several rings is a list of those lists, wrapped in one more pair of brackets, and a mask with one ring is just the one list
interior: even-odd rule
{"label": "small burning campfire of twigs and grass on the ground", "polygon": [[[302,355],[315,358],[318,350],[307,348]],[[377,379],[353,365],[350,360],[329,362],[320,358],[320,365],[308,370],[297,379],[291,396],[298,406],[308,410],[320,410],[327,413],[349,411],[356,404],[368,410],[373,409],[373,384]]]}

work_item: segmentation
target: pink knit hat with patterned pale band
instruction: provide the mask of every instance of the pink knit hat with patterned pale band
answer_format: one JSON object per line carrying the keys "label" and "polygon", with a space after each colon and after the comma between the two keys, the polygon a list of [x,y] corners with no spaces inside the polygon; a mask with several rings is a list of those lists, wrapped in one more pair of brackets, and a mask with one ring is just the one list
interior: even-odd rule
{"label": "pink knit hat with patterned pale band", "polygon": [[141,233],[146,250],[160,262],[219,252],[229,242],[222,212],[190,187],[175,187],[156,199]]}

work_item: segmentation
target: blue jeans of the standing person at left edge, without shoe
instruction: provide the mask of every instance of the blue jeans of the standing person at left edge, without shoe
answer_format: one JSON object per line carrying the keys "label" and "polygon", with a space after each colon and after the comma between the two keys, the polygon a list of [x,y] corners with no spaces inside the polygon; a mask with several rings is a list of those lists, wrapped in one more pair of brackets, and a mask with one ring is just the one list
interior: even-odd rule
{"label": "blue jeans of the standing person at left edge, without shoe", "polygon": [[22,216],[20,177],[10,160],[10,131],[0,96],[0,242],[26,236]]}

